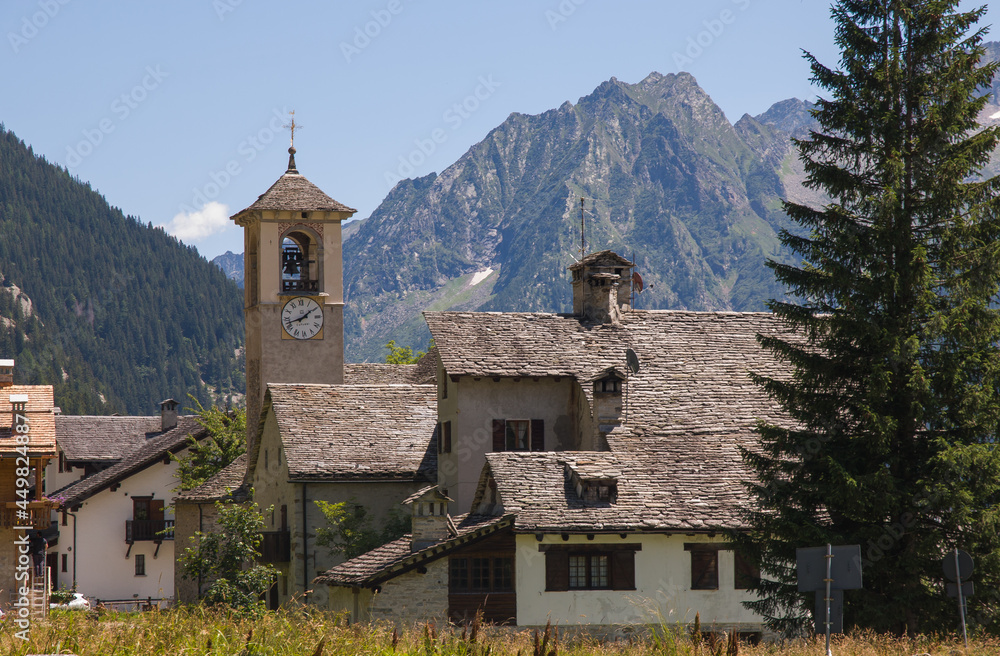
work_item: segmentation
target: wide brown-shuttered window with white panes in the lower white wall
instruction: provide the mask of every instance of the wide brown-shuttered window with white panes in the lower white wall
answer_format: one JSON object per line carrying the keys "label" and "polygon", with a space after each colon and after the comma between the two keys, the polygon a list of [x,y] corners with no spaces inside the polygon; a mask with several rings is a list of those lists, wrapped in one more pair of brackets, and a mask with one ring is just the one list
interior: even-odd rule
{"label": "wide brown-shuttered window with white panes in the lower white wall", "polygon": [[635,552],[641,549],[640,544],[540,545],[545,552],[545,589],[635,590]]}

